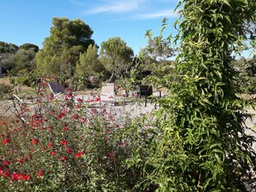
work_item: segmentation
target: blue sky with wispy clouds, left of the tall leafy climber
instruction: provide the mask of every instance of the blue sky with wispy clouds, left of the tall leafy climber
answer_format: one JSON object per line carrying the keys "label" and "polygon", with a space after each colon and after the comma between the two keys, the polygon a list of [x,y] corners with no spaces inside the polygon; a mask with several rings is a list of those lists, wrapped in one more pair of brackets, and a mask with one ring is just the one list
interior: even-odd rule
{"label": "blue sky with wispy clouds, left of the tall leafy climber", "polygon": [[66,17],[88,24],[98,46],[119,36],[138,54],[147,46],[147,29],[158,35],[164,17],[170,25],[165,33],[175,33],[177,4],[178,0],[0,0],[0,41],[42,48],[53,17]]}

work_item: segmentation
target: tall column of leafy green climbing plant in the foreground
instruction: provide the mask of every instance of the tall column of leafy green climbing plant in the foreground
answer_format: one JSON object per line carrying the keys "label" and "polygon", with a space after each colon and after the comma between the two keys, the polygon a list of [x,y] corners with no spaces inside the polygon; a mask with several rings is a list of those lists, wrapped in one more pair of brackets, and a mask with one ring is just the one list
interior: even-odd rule
{"label": "tall column of leafy green climbing plant in the foreground", "polygon": [[256,3],[182,0],[178,7],[178,75],[162,100],[158,136],[147,155],[128,163],[143,166],[146,187],[157,191],[250,191],[244,180],[255,182],[255,138],[245,133],[247,102],[235,95],[230,64],[254,35]]}

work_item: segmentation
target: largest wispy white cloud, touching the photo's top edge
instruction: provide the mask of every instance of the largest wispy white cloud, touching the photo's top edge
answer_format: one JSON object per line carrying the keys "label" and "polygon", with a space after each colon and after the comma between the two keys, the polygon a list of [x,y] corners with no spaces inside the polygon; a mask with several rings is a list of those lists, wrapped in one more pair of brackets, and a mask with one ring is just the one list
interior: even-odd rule
{"label": "largest wispy white cloud, touching the photo's top edge", "polygon": [[144,0],[109,0],[104,1],[103,5],[98,5],[95,8],[87,11],[87,14],[100,13],[121,13],[139,9],[140,3]]}

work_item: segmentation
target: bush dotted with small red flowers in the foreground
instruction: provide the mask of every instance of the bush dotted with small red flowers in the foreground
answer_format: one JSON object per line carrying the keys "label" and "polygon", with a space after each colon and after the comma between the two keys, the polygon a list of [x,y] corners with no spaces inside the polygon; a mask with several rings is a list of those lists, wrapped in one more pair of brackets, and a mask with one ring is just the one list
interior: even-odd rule
{"label": "bush dotted with small red flowers in the foreground", "polygon": [[16,105],[18,119],[1,127],[0,186],[6,191],[135,190],[140,172],[125,167],[134,147],[126,133],[134,124],[130,111],[87,104],[68,94],[62,102],[37,99],[34,109]]}

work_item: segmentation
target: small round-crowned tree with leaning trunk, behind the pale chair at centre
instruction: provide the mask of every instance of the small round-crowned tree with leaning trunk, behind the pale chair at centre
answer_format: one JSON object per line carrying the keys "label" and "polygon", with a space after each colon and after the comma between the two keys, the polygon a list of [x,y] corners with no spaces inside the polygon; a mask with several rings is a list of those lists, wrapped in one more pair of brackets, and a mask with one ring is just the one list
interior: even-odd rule
{"label": "small round-crowned tree with leaning trunk, behind the pale chair at centre", "polygon": [[120,37],[113,37],[102,42],[100,54],[103,65],[111,72],[109,82],[112,82],[132,61],[134,51]]}

